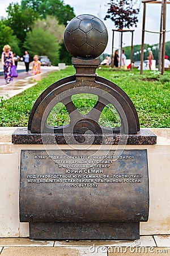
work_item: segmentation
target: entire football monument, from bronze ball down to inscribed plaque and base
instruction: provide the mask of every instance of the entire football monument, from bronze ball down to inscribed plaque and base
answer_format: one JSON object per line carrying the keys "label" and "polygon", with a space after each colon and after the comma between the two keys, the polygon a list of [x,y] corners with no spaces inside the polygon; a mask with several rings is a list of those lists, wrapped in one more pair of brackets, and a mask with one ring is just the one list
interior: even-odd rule
{"label": "entire football monument, from bronze ball down to inscribed plaque and base", "polygon": [[[75,75],[41,93],[28,129],[19,128],[12,143],[67,144],[72,149],[22,150],[20,221],[29,222],[29,237],[34,239],[138,239],[139,222],[147,221],[149,210],[147,150],[108,151],[101,145],[140,147],[155,144],[156,136],[140,131],[137,110],[124,90],[95,73],[100,65],[97,56],[108,41],[104,23],[94,15],[79,15],[67,25],[64,41],[74,56]],[[72,97],[82,98],[82,93],[97,96],[86,114]],[[59,102],[70,122],[49,125],[48,116]],[[120,118],[118,127],[116,121],[111,127],[100,125],[109,104]],[[77,144],[99,145],[99,150],[78,150]]]}

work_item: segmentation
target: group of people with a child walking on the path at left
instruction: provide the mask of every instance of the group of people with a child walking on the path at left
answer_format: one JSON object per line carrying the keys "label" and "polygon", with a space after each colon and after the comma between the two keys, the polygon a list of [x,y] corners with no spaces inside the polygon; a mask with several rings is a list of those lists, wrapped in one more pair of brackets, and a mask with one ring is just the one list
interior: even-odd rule
{"label": "group of people with a child walking on the path at left", "polygon": [[[1,55],[1,62],[3,65],[3,73],[5,76],[5,81],[6,84],[10,84],[12,81],[12,74],[11,74],[11,67],[18,65],[19,60],[24,60],[25,63],[25,70],[28,73],[29,72],[29,63],[31,62],[31,57],[28,53],[28,51],[25,51],[25,54],[23,55],[22,58],[20,58],[16,53],[11,51],[11,47],[6,44],[3,47],[3,52]],[[35,55],[33,57],[32,61],[32,75],[37,75],[41,73],[41,62],[39,60],[39,56]]]}

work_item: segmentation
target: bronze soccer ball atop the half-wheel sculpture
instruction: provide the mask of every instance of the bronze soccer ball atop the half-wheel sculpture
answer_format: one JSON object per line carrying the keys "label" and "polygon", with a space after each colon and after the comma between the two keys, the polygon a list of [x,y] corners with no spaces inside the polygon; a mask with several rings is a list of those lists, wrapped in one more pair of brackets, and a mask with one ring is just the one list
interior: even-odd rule
{"label": "bronze soccer ball atop the half-wheel sculpture", "polygon": [[95,59],[108,43],[105,24],[96,16],[83,14],[73,18],[64,32],[67,51],[74,57]]}

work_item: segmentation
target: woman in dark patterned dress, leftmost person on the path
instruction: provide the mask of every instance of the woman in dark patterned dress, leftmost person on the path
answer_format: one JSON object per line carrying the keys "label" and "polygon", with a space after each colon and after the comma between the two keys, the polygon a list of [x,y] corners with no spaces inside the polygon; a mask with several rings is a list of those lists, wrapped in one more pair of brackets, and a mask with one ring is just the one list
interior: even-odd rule
{"label": "woman in dark patterned dress, leftmost person on the path", "polygon": [[11,47],[8,44],[6,44],[3,47],[1,62],[3,65],[3,73],[5,75],[6,84],[10,84],[10,82],[12,81],[11,65],[15,65],[15,62],[14,62],[14,55],[11,52]]}

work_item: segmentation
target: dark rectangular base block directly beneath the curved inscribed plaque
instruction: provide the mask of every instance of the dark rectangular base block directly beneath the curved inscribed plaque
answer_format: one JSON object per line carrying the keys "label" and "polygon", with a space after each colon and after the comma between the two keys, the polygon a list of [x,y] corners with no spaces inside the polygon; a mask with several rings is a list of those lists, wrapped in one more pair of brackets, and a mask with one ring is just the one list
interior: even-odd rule
{"label": "dark rectangular base block directly beneath the curved inscribed plaque", "polygon": [[137,240],[139,222],[36,222],[29,224],[29,238],[55,240]]}

